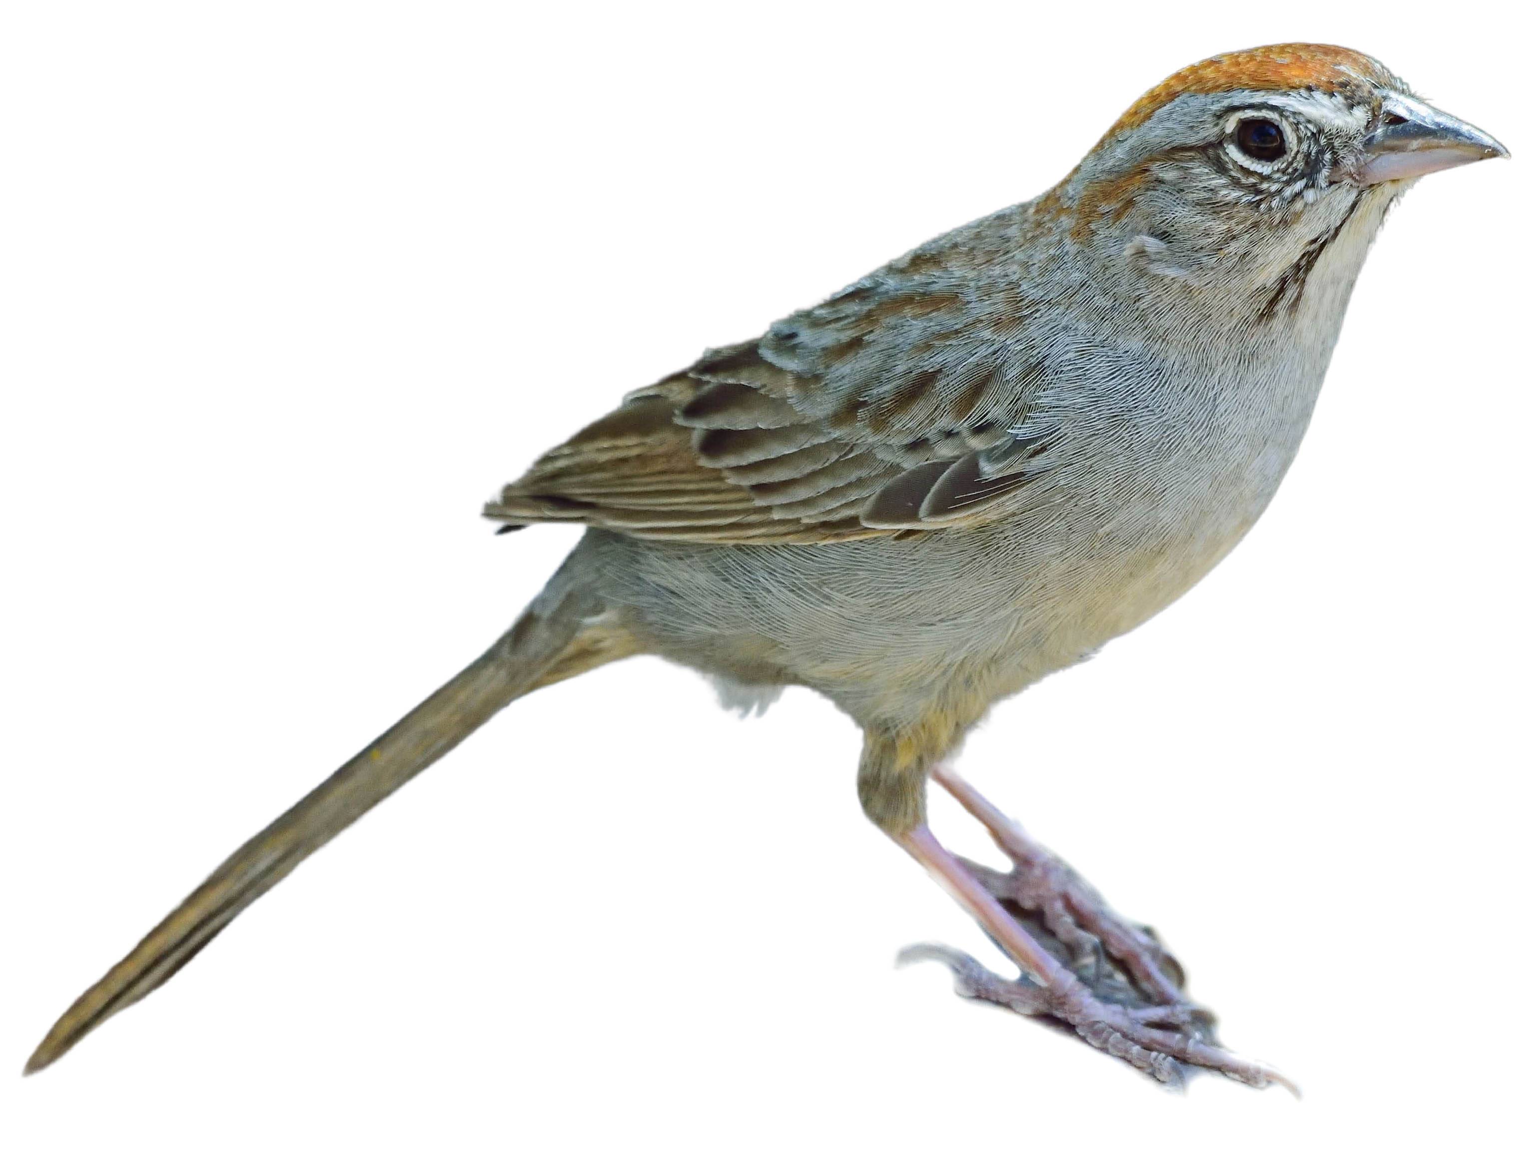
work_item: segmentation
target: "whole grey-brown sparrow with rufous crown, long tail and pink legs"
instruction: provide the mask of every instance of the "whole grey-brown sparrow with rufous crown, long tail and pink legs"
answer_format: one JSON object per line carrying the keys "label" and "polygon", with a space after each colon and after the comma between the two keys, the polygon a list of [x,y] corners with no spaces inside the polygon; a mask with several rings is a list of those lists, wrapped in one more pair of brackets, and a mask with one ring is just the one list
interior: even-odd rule
{"label": "whole grey-brown sparrow with rufous crown, long tail and pink legs", "polygon": [[[827,696],[857,793],[1020,969],[943,945],[975,999],[1164,1082],[1278,1073],[1226,1050],[1152,930],[1117,915],[952,766],[1000,698],[1206,575],[1290,464],[1380,224],[1423,175],[1506,149],[1377,60],[1273,45],[1143,95],[1035,200],[707,351],[492,500],[586,526],[491,649],[235,850],[58,1019],[55,1061],[509,703],[651,653],[767,706]],[[952,855],[929,781],[1012,861]]]}

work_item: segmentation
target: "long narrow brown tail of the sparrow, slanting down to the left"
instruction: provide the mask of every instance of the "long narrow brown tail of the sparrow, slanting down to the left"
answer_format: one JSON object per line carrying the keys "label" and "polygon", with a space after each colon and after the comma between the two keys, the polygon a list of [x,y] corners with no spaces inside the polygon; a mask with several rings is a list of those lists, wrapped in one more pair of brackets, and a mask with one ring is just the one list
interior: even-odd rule
{"label": "long narrow brown tail of the sparrow, slanting down to the left", "polygon": [[503,706],[546,684],[628,656],[628,636],[592,623],[561,578],[498,641],[320,787],[246,841],[134,950],[58,1018],[26,1072],[63,1056],[120,1008],[168,981],[240,912]]}

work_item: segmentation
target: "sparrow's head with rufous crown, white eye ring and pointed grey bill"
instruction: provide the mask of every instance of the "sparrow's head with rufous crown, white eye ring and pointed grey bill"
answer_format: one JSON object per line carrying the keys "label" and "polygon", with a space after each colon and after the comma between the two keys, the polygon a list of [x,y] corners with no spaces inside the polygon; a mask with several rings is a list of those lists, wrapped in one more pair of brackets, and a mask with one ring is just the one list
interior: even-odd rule
{"label": "sparrow's head with rufous crown, white eye ring and pointed grey bill", "polygon": [[1298,307],[1317,266],[1349,291],[1412,181],[1504,155],[1372,57],[1272,45],[1149,91],[1060,186],[1055,211],[1132,283],[1221,286],[1224,301],[1277,315]]}

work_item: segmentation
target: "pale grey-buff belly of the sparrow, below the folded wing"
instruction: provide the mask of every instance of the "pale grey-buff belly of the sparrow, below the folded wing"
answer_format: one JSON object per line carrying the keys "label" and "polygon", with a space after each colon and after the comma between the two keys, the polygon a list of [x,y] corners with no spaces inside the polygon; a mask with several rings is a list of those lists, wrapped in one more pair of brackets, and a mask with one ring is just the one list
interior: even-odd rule
{"label": "pale grey-buff belly of the sparrow, below the folded wing", "polygon": [[594,533],[608,595],[664,656],[804,684],[863,721],[955,686],[986,703],[1078,663],[1190,589],[1249,530],[1301,437],[1177,446],[1081,473],[1040,515],[824,546],[689,546]]}

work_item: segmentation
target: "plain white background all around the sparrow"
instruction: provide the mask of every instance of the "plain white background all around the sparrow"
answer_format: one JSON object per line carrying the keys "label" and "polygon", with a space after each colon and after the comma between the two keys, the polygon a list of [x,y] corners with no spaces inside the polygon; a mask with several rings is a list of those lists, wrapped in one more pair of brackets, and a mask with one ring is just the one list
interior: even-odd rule
{"label": "plain white background all around the sparrow", "polygon": [[[1057,8],[1050,8],[1057,12]],[[637,660],[518,703],[45,1075],[14,1150],[1509,1147],[1529,1124],[1529,43],[1478,5],[18,3],[0,28],[0,1064],[480,652],[480,501],[621,392],[1283,38],[1516,154],[1429,178],[1270,513],[969,775],[1306,1092],[1003,1012],[855,730]],[[941,835],[984,852],[937,801]],[[1383,1147],[1383,1145],[1380,1145]]]}

